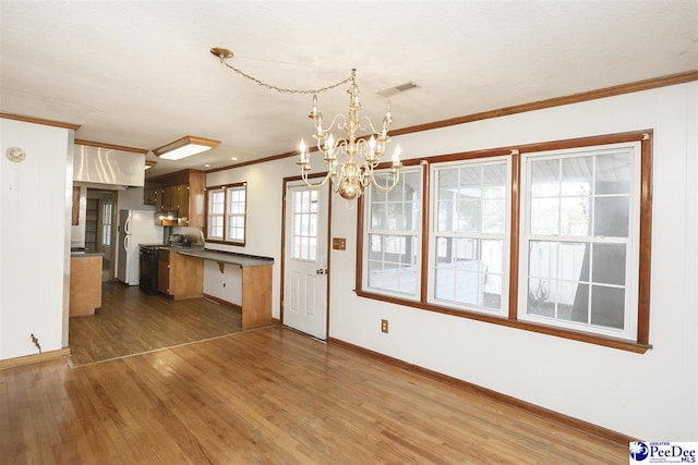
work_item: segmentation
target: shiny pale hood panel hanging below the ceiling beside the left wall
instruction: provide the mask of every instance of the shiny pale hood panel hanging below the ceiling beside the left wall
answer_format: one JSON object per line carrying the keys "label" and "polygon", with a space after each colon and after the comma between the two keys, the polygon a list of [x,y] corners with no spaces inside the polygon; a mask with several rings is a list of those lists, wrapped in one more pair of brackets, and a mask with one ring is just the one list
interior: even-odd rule
{"label": "shiny pale hood panel hanging below the ceiling beside the left wall", "polygon": [[145,155],[75,144],[73,182],[143,186]]}

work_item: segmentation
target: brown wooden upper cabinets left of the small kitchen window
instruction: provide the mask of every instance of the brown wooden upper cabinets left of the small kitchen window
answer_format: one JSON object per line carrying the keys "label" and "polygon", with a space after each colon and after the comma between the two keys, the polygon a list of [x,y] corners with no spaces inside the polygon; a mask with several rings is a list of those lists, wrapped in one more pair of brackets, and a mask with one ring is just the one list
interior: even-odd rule
{"label": "brown wooden upper cabinets left of the small kitchen window", "polygon": [[[184,170],[146,181],[144,203],[155,197],[156,211],[178,211],[178,225],[204,227],[206,173],[197,170]],[[156,186],[156,187],[154,187]],[[146,191],[153,191],[147,194]]]}

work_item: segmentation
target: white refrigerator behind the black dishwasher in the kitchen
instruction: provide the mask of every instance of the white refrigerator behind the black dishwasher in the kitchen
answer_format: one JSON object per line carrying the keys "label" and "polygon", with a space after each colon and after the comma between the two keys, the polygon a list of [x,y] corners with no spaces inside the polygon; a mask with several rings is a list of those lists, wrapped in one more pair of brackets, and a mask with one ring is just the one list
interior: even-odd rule
{"label": "white refrigerator behind the black dishwasher in the kitchen", "polygon": [[155,224],[153,210],[119,210],[118,233],[117,279],[139,285],[140,244],[163,244],[164,228]]}

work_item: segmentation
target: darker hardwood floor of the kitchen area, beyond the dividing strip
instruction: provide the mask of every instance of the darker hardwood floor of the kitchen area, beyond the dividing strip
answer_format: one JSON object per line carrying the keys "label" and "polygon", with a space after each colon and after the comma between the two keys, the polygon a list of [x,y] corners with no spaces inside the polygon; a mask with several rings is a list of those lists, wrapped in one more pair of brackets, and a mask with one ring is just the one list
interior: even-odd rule
{"label": "darker hardwood floor of the kitchen area, beyond the dividing strip", "polygon": [[103,283],[94,316],[71,318],[71,363],[83,365],[240,332],[240,311],[193,298],[172,301],[137,286]]}

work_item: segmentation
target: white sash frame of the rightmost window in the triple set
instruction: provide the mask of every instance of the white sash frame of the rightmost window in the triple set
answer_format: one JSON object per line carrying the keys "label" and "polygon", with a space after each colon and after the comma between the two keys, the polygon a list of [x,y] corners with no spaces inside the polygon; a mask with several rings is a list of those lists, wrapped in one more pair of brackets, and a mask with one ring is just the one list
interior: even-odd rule
{"label": "white sash frame of the rightmost window in the triple set", "polygon": [[[614,237],[601,236],[573,236],[573,235],[533,235],[530,234],[530,218],[527,215],[531,203],[530,188],[530,163],[529,160],[559,159],[561,156],[590,156],[604,152],[615,152],[618,149],[631,150],[630,160],[630,189],[629,189],[629,224],[628,238],[618,240]],[[521,196],[520,221],[519,221],[519,282],[518,282],[518,315],[520,321],[530,321],[564,329],[583,331],[635,341],[638,327],[638,287],[639,287],[639,224],[640,224],[640,183],[641,183],[641,144],[639,142],[628,142],[619,144],[603,144],[597,146],[577,147],[571,149],[550,150],[540,152],[521,154]],[[529,315],[528,304],[528,250],[530,241],[557,241],[557,242],[591,242],[591,243],[624,243],[627,244],[626,272],[625,272],[625,311],[624,328],[616,330],[613,328],[593,326],[576,321],[566,321],[544,316]]]}

